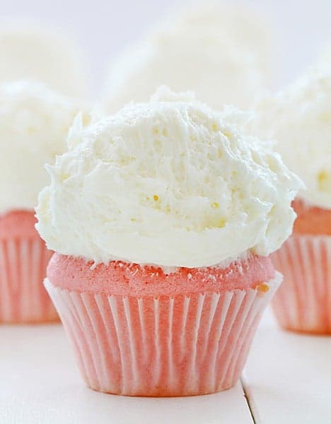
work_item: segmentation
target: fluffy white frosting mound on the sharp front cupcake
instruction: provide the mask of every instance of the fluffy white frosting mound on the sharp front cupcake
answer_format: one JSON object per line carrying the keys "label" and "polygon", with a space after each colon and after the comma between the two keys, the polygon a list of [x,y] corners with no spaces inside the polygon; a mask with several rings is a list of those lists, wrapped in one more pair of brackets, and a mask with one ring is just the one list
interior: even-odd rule
{"label": "fluffy white frosting mound on the sharp front cupcake", "polygon": [[202,267],[289,237],[300,180],[280,156],[192,95],[161,88],[83,128],[47,167],[37,230],[50,249],[108,263]]}

